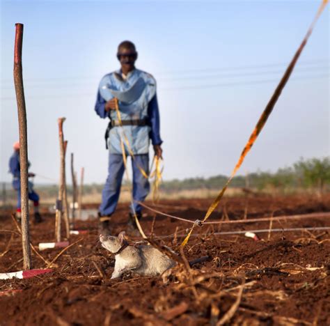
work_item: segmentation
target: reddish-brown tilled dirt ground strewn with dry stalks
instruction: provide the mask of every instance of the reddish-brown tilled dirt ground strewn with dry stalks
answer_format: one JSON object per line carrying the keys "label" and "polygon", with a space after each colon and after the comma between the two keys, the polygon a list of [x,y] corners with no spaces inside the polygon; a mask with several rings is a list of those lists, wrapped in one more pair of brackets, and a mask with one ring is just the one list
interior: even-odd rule
{"label": "reddish-brown tilled dirt ground strewn with dry stalks", "polygon": [[[158,210],[195,221],[203,219],[212,200],[162,201]],[[152,203],[148,203],[152,205]],[[97,205],[94,205],[96,208]],[[156,240],[175,251],[187,222],[144,210],[141,225]],[[247,219],[271,215],[330,212],[330,194],[254,196],[223,199],[210,220]],[[113,215],[113,234],[125,230],[127,204]],[[54,215],[44,212],[42,224],[31,223],[31,242],[54,241]],[[272,228],[330,226],[329,217],[284,219]],[[59,256],[53,271],[31,279],[0,281],[0,325],[330,325],[329,231],[259,233],[255,241],[219,231],[269,228],[269,222],[222,224],[196,228],[184,256],[188,261],[210,256],[191,268],[180,264],[164,283],[161,277],[127,273],[110,279],[114,257],[101,247],[97,220],[77,222],[88,230],[72,235],[77,242]],[[64,232],[63,232],[64,234]],[[204,234],[204,235],[202,235]],[[206,234],[206,235],[205,235]],[[127,238],[129,242],[134,239]],[[136,240],[136,239],[135,239]],[[62,249],[40,254],[52,261]],[[32,254],[33,267],[46,263]],[[0,272],[22,270],[22,244],[10,212],[0,215]]]}

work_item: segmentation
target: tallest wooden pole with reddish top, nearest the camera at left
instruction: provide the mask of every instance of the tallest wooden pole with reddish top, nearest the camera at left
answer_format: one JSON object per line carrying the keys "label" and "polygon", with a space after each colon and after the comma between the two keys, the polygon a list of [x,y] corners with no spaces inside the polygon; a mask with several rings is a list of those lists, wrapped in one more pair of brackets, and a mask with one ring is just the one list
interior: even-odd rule
{"label": "tallest wooden pole with reddish top, nearest the camera at left", "polygon": [[14,83],[19,125],[19,165],[21,173],[21,209],[22,209],[22,247],[23,269],[31,270],[31,249],[29,232],[29,189],[28,189],[28,153],[27,126],[22,74],[23,24],[15,24]]}

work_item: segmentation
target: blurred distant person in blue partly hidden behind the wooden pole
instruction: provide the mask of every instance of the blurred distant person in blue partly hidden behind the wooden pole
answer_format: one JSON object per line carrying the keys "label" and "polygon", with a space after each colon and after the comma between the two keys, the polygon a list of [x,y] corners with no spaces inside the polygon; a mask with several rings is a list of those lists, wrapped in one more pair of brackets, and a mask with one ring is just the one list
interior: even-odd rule
{"label": "blurred distant person in blue partly hidden behind the wooden pole", "polygon": [[[19,165],[19,142],[16,141],[13,145],[14,153],[11,155],[9,160],[10,173],[13,174],[13,188],[17,192],[17,208],[16,208],[16,219],[21,219],[21,172]],[[30,162],[28,162],[30,166]],[[29,173],[29,177],[35,176],[34,173]],[[34,208],[34,221],[36,223],[42,222],[41,215],[39,213],[39,195],[33,190],[33,183],[29,181],[29,199],[33,201]]]}

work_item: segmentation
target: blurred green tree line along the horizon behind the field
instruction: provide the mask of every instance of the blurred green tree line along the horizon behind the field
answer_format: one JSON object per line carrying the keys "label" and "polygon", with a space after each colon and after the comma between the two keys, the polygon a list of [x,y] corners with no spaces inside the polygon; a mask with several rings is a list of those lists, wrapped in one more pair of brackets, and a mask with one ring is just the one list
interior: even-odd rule
{"label": "blurred green tree line along the horizon behind the field", "polygon": [[[186,178],[183,180],[163,181],[160,190],[164,192],[178,192],[191,189],[221,189],[226,184],[228,176],[219,175],[210,178]],[[123,188],[129,189],[130,185],[123,183]],[[292,191],[297,189],[315,189],[318,192],[330,191],[330,157],[301,158],[292,166],[278,169],[275,173],[257,171],[247,173],[246,176],[235,176],[230,187],[256,189],[258,191],[273,189],[279,191]],[[57,196],[58,185],[36,185],[35,187],[43,196]],[[103,184],[84,185],[84,194],[100,194]],[[68,194],[72,194],[72,187],[68,185]],[[11,185],[6,185],[6,196],[14,196]],[[0,192],[0,201],[3,192]]]}

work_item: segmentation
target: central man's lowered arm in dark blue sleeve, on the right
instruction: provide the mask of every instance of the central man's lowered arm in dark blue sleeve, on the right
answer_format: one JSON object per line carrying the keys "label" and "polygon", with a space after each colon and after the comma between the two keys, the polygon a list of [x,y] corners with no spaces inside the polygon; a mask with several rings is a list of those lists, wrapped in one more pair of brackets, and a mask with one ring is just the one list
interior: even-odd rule
{"label": "central man's lowered arm in dark blue sleeve, on the right", "polygon": [[155,95],[148,104],[148,116],[150,121],[150,139],[154,146],[155,155],[162,157],[162,139],[160,138],[160,118],[157,102],[157,95]]}

